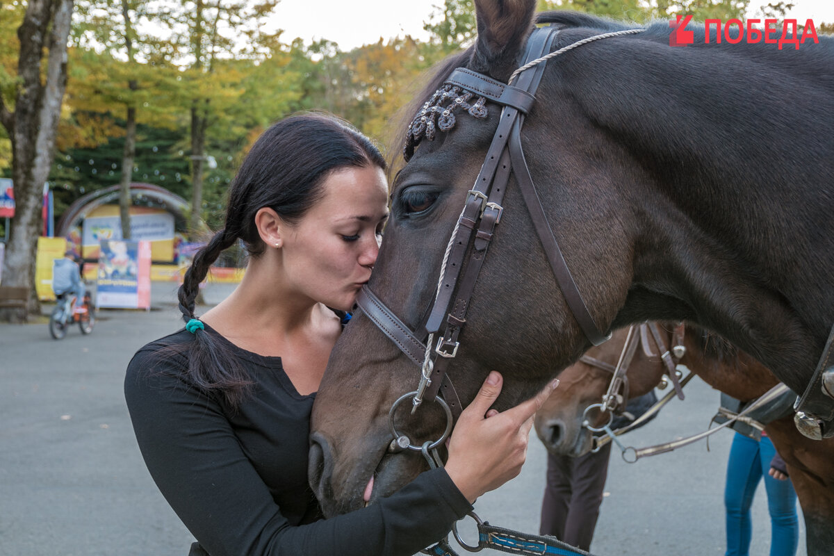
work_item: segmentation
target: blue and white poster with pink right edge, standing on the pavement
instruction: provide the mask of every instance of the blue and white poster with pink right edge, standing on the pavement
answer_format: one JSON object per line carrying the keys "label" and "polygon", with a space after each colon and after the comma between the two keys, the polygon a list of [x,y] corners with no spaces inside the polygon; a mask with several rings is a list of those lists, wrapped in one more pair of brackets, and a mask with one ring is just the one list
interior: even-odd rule
{"label": "blue and white poster with pink right edge, standing on the pavement", "polygon": [[99,245],[96,307],[149,309],[151,245],[105,239]]}

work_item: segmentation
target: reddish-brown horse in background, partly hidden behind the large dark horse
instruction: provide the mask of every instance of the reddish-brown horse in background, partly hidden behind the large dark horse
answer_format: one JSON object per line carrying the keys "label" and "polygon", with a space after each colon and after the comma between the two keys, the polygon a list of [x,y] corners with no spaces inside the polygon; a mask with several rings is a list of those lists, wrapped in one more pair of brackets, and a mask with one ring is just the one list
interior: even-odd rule
{"label": "reddish-brown horse in background, partly hidden behind the large dark horse", "polygon": [[[661,327],[662,328],[662,327]],[[668,326],[662,341],[671,343]],[[649,339],[652,343],[653,339]],[[591,348],[586,356],[603,363],[616,363],[625,343],[625,331],[617,331],[609,342]],[[741,401],[758,398],[778,382],[768,368],[748,353],[732,348],[723,338],[705,330],[687,326],[682,345],[686,353],[677,363],[684,365],[712,388]],[[658,355],[662,347],[651,344],[639,350],[627,370],[631,385],[628,397],[648,392],[663,379],[669,369]],[[651,355],[646,354],[651,353]],[[560,374],[560,386],[535,415],[535,431],[550,453],[580,456],[592,446],[590,420],[598,428],[607,417],[586,411],[599,403],[606,393],[611,374],[593,363],[582,361]],[[562,387],[565,388],[562,388]],[[716,397],[716,406],[718,399]],[[802,435],[790,416],[766,423],[766,432],[776,451],[787,464],[806,523],[806,546],[809,556],[830,554],[834,548],[834,438],[821,441]],[[662,456],[661,456],[662,457]]]}

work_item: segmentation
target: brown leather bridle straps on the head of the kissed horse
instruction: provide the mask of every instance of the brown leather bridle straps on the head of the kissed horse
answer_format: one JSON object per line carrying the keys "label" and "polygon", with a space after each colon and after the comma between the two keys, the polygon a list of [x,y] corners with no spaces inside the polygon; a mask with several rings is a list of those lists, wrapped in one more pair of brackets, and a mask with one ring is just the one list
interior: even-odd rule
{"label": "brown leather bridle straps on the head of the kissed horse", "polygon": [[[554,27],[535,28],[527,41],[523,63],[534,62],[543,54],[550,53],[557,33]],[[420,386],[410,393],[413,394],[412,412],[424,400],[439,399],[437,395],[442,386],[443,398],[455,418],[460,415],[460,399],[446,371],[450,360],[457,355],[460,346],[458,338],[466,323],[470,298],[495,234],[495,227],[500,223],[504,211],[501,203],[510,181],[510,172],[515,175],[550,268],[583,333],[595,345],[610,337],[600,332],[570,274],[536,193],[521,146],[521,128],[535,101],[534,93],[544,71],[545,64],[536,64],[522,71],[513,84],[505,84],[469,69],[457,68],[445,81],[447,85],[483,97],[503,108],[485,162],[466,196],[465,207],[450,238],[438,291],[425,327],[420,330],[420,337],[387,308],[367,285],[359,292],[357,303],[364,314],[406,356],[423,368]],[[424,115],[425,109],[424,106]],[[442,334],[435,343],[435,334],[440,333],[441,328]]]}

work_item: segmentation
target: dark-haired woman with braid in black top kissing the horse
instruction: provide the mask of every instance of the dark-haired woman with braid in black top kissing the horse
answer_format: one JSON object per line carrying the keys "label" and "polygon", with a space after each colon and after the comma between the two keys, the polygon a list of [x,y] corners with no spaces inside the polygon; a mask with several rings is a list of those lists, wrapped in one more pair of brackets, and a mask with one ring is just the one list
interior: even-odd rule
{"label": "dark-haired woman with braid in black top kissing the horse", "polygon": [[[141,348],[125,396],[139,448],[198,539],[190,554],[411,554],[481,493],[514,477],[531,416],[552,389],[505,413],[490,373],[461,415],[445,468],[389,498],[321,520],[307,483],[309,415],[329,353],[368,281],[387,209],[384,160],[334,118],[285,119],[259,138],[229,191],[225,227],[179,290],[186,327]],[[229,298],[194,298],[224,248],[251,255]]]}

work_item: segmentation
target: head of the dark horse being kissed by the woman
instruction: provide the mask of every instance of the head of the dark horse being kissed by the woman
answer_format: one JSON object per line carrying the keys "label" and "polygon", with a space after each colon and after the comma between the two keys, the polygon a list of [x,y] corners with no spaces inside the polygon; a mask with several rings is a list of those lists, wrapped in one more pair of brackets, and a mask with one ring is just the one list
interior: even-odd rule
{"label": "head of the dark horse being kissed by the woman", "polygon": [[[505,188],[500,192],[503,211],[491,208],[493,216],[500,216],[494,236],[477,232],[480,214],[475,213],[474,223],[460,218],[485,165],[497,163],[499,174],[509,172],[502,168],[507,161],[488,155],[490,144],[501,134],[496,129],[502,107],[482,102],[478,94],[441,88],[458,67],[505,82],[520,66],[520,54],[533,28],[535,0],[483,0],[476,1],[476,8],[477,43],[447,61],[420,98],[423,109],[409,128],[404,145],[409,160],[394,179],[389,223],[369,290],[425,342],[420,330],[430,328],[427,321],[435,314],[435,296],[444,288],[438,287],[441,268],[446,276],[461,277],[451,288],[457,292],[466,287],[467,269],[483,260],[468,301],[455,306],[453,296],[450,306],[440,312],[442,323],[431,347],[449,329],[444,328],[451,322],[446,313],[465,313],[465,326],[459,323],[462,332],[456,338],[460,348],[451,359],[448,376],[466,405],[490,369],[499,370],[505,383],[496,408],[502,410],[533,395],[579,358],[590,342],[554,278],[517,178],[510,176],[493,186],[493,191]],[[600,30],[587,29],[584,35],[564,41],[595,33]],[[549,81],[554,80],[545,73],[540,93],[552,91],[554,83]],[[603,182],[616,177],[615,173],[595,176],[594,156],[571,155],[555,163],[568,143],[589,139],[581,129],[565,129],[568,120],[560,114],[569,108],[547,96],[537,96],[525,120],[526,167],[548,208],[547,218],[576,288],[590,308],[590,319],[605,331],[625,303],[631,281],[630,263],[622,263],[629,260],[630,239],[627,234],[612,238],[608,233],[621,225],[616,189],[600,193]],[[592,143],[582,147],[595,153],[599,145]],[[524,169],[516,166],[512,164],[514,173]],[[459,222],[463,227],[474,225],[476,231],[459,246],[465,258],[445,258],[447,247],[455,248],[450,237],[461,229],[456,227]],[[488,257],[485,249],[475,253],[479,242],[489,243]],[[426,468],[419,452],[388,449],[393,439],[389,410],[419,382],[420,366],[414,357],[406,357],[386,338],[367,311],[356,313],[334,347],[312,418],[310,482],[326,514],[359,507],[372,476],[375,499],[394,492]],[[427,401],[414,414],[410,407],[410,400],[398,406],[393,419],[397,431],[406,433],[415,446],[440,438],[446,423],[440,406]]]}

